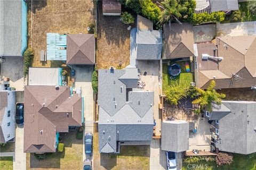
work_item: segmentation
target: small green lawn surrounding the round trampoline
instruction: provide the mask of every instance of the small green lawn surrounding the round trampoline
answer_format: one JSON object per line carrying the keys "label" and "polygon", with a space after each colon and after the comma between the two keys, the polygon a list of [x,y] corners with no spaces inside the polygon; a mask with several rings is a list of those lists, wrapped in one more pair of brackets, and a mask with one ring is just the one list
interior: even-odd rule
{"label": "small green lawn surrounding the round trampoline", "polygon": [[[177,64],[180,64],[181,66],[181,73],[178,75],[178,77],[175,78],[175,80],[170,79],[170,75],[168,73],[167,64],[163,63],[163,92],[166,91],[166,89],[169,86],[183,86],[188,87],[190,86],[190,82],[193,82],[193,74],[191,72],[186,72],[185,69],[185,62],[175,62]],[[190,67],[191,69],[191,67]]]}

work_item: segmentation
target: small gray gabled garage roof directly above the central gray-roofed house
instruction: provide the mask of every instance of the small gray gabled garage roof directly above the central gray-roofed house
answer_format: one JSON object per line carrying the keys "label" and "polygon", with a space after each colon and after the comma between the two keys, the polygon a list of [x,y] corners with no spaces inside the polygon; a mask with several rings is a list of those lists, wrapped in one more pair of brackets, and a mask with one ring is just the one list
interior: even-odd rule
{"label": "small gray gabled garage roof directly above the central gray-roofed house", "polygon": [[162,41],[162,31],[137,30],[137,60],[160,60]]}

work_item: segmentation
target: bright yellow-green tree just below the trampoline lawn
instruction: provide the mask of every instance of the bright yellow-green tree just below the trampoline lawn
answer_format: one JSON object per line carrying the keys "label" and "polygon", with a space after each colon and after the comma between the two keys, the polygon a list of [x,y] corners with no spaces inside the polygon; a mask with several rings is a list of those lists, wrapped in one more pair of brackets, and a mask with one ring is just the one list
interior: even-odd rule
{"label": "bright yellow-green tree just below the trampoline lawn", "polygon": [[170,86],[166,91],[166,100],[172,105],[178,105],[178,102],[183,97],[186,97],[186,88],[182,86]]}

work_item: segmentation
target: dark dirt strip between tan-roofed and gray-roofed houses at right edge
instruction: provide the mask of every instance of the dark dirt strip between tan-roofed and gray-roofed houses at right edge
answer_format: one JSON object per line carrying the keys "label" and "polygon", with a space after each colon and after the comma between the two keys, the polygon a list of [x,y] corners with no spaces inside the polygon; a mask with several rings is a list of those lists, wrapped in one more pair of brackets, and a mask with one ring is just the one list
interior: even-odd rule
{"label": "dark dirt strip between tan-roofed and gray-roofed houses at right edge", "polygon": [[217,90],[226,94],[225,100],[256,101],[256,90],[250,88],[234,88]]}

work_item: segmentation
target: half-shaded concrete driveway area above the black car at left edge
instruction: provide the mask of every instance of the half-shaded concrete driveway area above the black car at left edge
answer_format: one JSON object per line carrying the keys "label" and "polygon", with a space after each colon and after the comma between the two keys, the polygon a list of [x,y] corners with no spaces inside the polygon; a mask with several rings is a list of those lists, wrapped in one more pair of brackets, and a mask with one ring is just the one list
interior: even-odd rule
{"label": "half-shaded concrete driveway area above the black car at left edge", "polygon": [[1,64],[1,78],[10,78],[10,87],[24,90],[23,57],[5,57]]}

